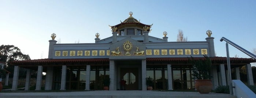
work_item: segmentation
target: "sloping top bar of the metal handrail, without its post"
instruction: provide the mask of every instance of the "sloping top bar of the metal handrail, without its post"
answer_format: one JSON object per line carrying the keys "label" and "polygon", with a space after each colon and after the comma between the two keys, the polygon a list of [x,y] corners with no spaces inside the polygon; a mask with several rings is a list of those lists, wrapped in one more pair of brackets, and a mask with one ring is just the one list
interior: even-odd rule
{"label": "sloping top bar of the metal handrail, without its post", "polygon": [[226,41],[227,43],[229,43],[230,45],[234,46],[234,47],[237,48],[238,50],[244,52],[244,53],[247,54],[248,56],[252,57],[253,59],[256,59],[256,56],[255,56],[253,53],[251,53],[251,52],[245,50],[244,48],[242,48],[242,47],[240,47],[240,46],[238,46],[238,45],[235,44],[234,42],[231,42],[229,39],[227,39],[227,38],[225,38],[225,37],[222,37],[222,38],[220,39],[220,41],[222,42],[223,40]]}

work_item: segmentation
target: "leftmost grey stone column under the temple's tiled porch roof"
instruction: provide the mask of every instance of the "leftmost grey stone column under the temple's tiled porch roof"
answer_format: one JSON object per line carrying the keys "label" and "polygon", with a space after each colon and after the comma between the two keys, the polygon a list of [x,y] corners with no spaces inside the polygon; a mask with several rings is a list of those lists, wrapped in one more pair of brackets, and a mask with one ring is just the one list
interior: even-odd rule
{"label": "leftmost grey stone column under the temple's tiled porch roof", "polygon": [[12,90],[17,90],[19,80],[19,67],[14,66],[13,80],[12,80]]}

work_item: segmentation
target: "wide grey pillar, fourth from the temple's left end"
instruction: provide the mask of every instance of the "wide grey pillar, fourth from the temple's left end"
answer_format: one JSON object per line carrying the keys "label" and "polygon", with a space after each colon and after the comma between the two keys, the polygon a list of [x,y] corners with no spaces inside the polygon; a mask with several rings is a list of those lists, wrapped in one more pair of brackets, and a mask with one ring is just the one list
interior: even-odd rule
{"label": "wide grey pillar, fourth from the temple's left end", "polygon": [[45,76],[45,90],[52,90],[53,82],[53,67],[47,67],[47,72]]}

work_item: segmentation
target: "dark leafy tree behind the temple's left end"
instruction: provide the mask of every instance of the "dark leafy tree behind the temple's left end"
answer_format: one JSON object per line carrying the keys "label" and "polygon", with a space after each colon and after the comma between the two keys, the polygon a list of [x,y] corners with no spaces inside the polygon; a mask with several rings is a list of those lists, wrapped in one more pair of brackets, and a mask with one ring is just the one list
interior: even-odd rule
{"label": "dark leafy tree behind the temple's left end", "polygon": [[[29,55],[23,54],[21,49],[15,47],[14,45],[1,45],[0,46],[0,61],[6,62],[6,70],[10,71],[10,77],[13,77],[14,66],[10,66],[11,61],[18,60],[30,60]],[[19,76],[26,76],[26,69],[20,68]]]}

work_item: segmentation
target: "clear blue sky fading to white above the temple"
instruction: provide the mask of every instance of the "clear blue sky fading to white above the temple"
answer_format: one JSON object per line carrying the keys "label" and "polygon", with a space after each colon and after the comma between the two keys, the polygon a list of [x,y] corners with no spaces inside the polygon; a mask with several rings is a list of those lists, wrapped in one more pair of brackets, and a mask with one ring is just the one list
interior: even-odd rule
{"label": "clear blue sky fading to white above the temple", "polygon": [[[150,36],[175,42],[206,41],[212,31],[216,56],[226,57],[225,37],[252,52],[256,48],[256,0],[0,0],[0,45],[14,45],[31,59],[48,58],[49,40],[94,43],[112,36],[108,25],[133,17],[153,24]],[[230,57],[251,58],[229,45]]]}

